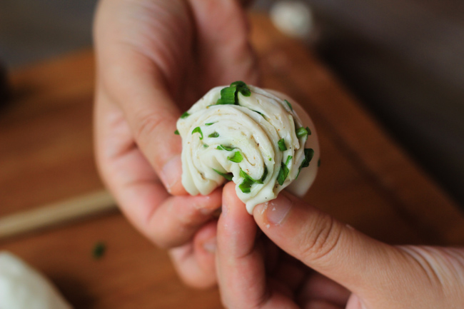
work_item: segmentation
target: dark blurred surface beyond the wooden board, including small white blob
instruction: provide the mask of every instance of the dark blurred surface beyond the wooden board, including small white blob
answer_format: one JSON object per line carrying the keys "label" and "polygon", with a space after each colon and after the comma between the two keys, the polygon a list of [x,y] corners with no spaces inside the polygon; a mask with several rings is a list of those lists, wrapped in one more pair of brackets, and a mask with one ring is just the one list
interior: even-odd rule
{"label": "dark blurred surface beyond the wooden board, including small white blob", "polygon": [[[91,46],[95,5],[1,0],[0,61],[11,71]],[[252,9],[316,51],[464,205],[463,1],[257,0]]]}

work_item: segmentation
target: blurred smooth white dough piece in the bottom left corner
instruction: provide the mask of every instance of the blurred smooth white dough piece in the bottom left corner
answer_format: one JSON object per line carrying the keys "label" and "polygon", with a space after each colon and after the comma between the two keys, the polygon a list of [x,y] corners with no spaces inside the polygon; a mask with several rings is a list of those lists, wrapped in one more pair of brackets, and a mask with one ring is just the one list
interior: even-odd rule
{"label": "blurred smooth white dough piece in the bottom left corner", "polygon": [[43,275],[0,252],[0,309],[71,309]]}

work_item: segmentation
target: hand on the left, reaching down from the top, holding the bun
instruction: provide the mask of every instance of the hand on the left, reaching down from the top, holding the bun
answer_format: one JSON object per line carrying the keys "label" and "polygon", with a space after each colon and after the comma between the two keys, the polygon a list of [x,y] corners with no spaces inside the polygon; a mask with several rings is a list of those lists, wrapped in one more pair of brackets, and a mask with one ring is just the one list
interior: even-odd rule
{"label": "hand on the left, reaching down from the top, holding the bun", "polygon": [[170,248],[186,283],[215,283],[221,190],[187,196],[176,121],[213,86],[256,83],[236,0],[102,0],[94,38],[96,161],[123,213]]}

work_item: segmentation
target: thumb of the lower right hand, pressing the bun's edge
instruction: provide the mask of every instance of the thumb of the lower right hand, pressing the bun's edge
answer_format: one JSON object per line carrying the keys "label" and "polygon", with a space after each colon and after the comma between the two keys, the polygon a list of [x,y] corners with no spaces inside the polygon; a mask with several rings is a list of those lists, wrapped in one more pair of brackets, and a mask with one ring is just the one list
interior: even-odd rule
{"label": "thumb of the lower right hand, pressing the bun's edge", "polygon": [[385,284],[398,271],[396,264],[404,264],[398,249],[355,231],[286,192],[256,206],[253,216],[276,245],[358,295],[365,295],[368,287],[388,288]]}

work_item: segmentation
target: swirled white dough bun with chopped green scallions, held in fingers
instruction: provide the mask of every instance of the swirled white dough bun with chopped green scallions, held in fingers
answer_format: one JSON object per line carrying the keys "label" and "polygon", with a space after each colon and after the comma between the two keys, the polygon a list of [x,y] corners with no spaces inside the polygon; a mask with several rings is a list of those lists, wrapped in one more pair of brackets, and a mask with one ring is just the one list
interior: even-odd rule
{"label": "swirled white dough bun with chopped green scallions, held in fingers", "polygon": [[283,93],[241,81],[208,91],[177,122],[182,184],[191,195],[233,181],[248,213],[316,178],[319,146],[311,118]]}

